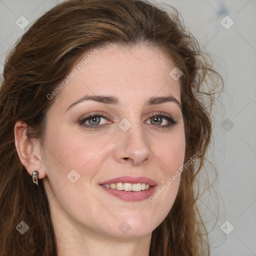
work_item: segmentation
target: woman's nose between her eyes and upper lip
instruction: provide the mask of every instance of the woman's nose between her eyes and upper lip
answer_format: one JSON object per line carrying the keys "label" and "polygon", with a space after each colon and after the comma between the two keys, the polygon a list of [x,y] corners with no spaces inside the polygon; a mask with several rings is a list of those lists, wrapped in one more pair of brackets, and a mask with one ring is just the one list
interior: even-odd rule
{"label": "woman's nose between her eyes and upper lip", "polygon": [[144,165],[150,161],[152,151],[142,126],[139,124],[135,128],[131,125],[126,131],[118,130],[113,152],[116,161],[131,165]]}

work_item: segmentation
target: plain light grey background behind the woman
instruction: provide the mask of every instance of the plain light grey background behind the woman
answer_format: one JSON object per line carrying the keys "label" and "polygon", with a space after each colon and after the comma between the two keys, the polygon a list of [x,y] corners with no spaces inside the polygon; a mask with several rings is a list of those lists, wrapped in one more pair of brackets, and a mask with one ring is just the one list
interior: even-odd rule
{"label": "plain light grey background behind the woman", "polygon": [[[14,41],[31,22],[59,2],[0,0],[0,72]],[[256,255],[256,0],[162,2],[179,10],[186,26],[213,54],[216,68],[224,78],[224,91],[213,111],[215,121],[209,148],[209,159],[218,171],[214,187],[219,196],[219,213],[214,194],[212,200],[209,196],[208,200],[200,200],[205,220],[217,219],[210,232],[211,255]],[[221,20],[226,26],[231,24],[231,20],[223,19],[227,15],[234,22],[229,29],[221,25]],[[15,24],[20,16],[29,21],[24,29]],[[208,228],[213,226],[213,220],[208,221]],[[228,233],[231,224],[234,229]]]}

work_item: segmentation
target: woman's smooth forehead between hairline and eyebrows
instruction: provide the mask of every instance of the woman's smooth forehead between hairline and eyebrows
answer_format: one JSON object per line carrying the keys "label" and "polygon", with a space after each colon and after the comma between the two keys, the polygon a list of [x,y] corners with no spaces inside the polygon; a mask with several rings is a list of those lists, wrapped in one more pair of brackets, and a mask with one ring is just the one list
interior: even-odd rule
{"label": "woman's smooth forehead between hairline and eyebrows", "polygon": [[180,102],[179,81],[169,74],[174,67],[167,54],[150,46],[91,49],[74,65],[56,103],[64,107],[88,94],[115,95],[126,104],[153,95],[172,95]]}

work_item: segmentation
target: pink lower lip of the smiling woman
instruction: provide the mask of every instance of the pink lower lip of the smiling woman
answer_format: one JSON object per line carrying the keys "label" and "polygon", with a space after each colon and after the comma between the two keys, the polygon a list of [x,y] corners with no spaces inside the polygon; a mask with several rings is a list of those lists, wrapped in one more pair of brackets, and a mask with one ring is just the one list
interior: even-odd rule
{"label": "pink lower lip of the smiling woman", "polygon": [[100,186],[107,193],[114,195],[124,201],[141,201],[141,200],[147,199],[153,194],[155,187],[156,187],[156,186],[151,186],[146,190],[134,192],[134,191],[124,191],[124,190],[117,190],[117,189],[113,189],[113,188],[107,188],[102,185],[100,185]]}

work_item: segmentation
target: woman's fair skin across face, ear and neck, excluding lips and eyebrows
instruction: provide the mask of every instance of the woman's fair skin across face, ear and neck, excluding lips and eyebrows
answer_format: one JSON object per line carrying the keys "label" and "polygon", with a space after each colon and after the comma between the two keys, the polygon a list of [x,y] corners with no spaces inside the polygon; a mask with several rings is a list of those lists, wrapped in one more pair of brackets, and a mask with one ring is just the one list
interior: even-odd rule
{"label": "woman's fair skin across face, ear and neck, excluding lips and eyebrows", "polygon": [[[171,95],[180,102],[179,81],[169,75],[173,61],[158,49],[111,44],[98,50],[55,96],[43,148],[26,137],[27,125],[21,121],[15,124],[15,144],[29,174],[37,169],[43,178],[58,255],[148,255],[152,230],[172,207],[180,177],[154,202],[121,200],[99,183],[145,176],[156,181],[157,191],[182,165],[185,136],[178,104],[144,105],[152,96]],[[77,99],[94,94],[116,96],[120,104],[86,100],[66,111]],[[107,115],[98,128],[79,124],[95,111]],[[153,121],[155,112],[171,115],[176,123],[161,128],[169,121]],[[125,132],[118,126],[123,118],[131,124]],[[74,183],[67,178],[72,169],[80,175]],[[123,221],[130,226],[125,234],[118,228]]]}

